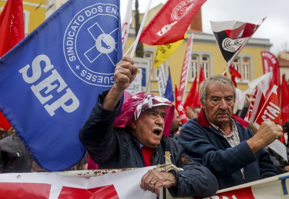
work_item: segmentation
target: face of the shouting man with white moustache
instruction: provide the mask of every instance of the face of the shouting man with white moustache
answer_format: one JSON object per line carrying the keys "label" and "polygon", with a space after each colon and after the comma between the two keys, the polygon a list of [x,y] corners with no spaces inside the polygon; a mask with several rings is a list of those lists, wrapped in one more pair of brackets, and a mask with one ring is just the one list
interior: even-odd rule
{"label": "face of the shouting man with white moustache", "polygon": [[132,133],[144,146],[155,148],[162,138],[166,114],[165,106],[155,106],[142,111],[136,121],[130,120]]}

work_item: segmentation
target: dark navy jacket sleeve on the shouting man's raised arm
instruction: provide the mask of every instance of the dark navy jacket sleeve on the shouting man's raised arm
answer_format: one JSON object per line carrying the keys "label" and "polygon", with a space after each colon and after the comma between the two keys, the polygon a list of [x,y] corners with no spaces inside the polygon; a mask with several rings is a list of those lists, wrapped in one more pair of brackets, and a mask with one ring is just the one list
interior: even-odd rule
{"label": "dark navy jacket sleeve on the shouting man's raised arm", "polygon": [[97,103],[79,131],[79,140],[95,163],[102,163],[112,159],[116,150],[114,120],[118,113],[120,102],[116,105],[115,110],[103,109],[101,105],[107,93],[108,91],[104,91],[98,95]]}

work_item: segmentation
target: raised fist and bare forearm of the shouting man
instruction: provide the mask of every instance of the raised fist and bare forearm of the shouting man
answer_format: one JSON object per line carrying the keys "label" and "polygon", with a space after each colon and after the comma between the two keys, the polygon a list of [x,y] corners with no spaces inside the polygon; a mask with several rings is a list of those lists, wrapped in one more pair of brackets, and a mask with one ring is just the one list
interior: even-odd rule
{"label": "raised fist and bare forearm of the shouting man", "polygon": [[102,102],[102,108],[106,110],[114,110],[121,95],[129,84],[134,80],[138,72],[138,67],[134,64],[134,60],[129,55],[123,56],[120,62],[116,64],[114,71],[115,83],[105,96]]}

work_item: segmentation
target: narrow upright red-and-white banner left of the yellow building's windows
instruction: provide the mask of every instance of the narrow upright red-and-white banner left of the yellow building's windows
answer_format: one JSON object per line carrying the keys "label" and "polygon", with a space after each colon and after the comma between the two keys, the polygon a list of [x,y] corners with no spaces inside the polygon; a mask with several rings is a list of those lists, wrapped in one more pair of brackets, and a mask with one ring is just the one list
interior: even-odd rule
{"label": "narrow upright red-and-white banner left of the yellow building's windows", "polygon": [[192,45],[193,45],[193,34],[190,36],[190,38],[188,40],[188,47],[186,50],[183,67],[181,69],[181,80],[180,80],[179,93],[180,93],[181,100],[183,103],[185,101],[185,95],[186,95],[186,87],[187,87]]}

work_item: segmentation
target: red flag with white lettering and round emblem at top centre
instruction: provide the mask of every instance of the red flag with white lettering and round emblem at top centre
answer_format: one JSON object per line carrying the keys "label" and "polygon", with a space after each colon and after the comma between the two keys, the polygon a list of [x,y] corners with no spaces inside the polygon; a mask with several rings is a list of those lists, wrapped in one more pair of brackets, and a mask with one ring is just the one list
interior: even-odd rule
{"label": "red flag with white lettering and round emblem at top centre", "polygon": [[192,19],[206,0],[168,0],[142,31],[140,42],[164,45],[184,39]]}

